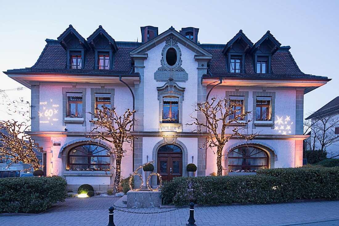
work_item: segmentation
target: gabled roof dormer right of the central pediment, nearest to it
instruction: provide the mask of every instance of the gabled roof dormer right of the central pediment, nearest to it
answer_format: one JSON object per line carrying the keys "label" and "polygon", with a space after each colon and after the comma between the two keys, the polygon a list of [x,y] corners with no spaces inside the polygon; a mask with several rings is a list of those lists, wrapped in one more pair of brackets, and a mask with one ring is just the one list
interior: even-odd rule
{"label": "gabled roof dormer right of the central pediment, nearest to it", "polygon": [[240,30],[230,41],[226,43],[223,54],[226,55],[227,69],[230,73],[245,72],[245,54],[252,48],[253,43]]}

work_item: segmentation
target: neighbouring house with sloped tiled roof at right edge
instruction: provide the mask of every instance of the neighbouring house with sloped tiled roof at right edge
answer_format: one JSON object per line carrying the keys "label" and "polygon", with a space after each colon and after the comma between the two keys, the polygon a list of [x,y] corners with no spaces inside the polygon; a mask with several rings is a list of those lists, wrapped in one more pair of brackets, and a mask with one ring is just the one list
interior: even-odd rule
{"label": "neighbouring house with sloped tiled roof at right edge", "polygon": [[339,96],[305,120],[311,120],[305,150],[324,150],[327,157],[339,157]]}

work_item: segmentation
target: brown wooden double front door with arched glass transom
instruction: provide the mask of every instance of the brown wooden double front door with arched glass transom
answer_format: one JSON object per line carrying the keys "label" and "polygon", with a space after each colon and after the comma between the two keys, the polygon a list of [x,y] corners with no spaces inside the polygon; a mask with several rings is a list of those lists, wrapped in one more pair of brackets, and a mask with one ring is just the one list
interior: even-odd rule
{"label": "brown wooden double front door with arched glass transom", "polygon": [[176,145],[164,145],[158,150],[157,172],[163,181],[182,176],[182,150]]}

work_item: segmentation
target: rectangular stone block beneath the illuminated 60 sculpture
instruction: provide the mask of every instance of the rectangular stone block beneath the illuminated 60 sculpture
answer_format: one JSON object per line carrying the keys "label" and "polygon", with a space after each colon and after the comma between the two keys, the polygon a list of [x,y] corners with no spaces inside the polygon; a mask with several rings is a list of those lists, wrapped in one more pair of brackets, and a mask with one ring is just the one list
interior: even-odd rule
{"label": "rectangular stone block beneath the illuminated 60 sculpture", "polygon": [[159,207],[161,191],[128,191],[127,208]]}

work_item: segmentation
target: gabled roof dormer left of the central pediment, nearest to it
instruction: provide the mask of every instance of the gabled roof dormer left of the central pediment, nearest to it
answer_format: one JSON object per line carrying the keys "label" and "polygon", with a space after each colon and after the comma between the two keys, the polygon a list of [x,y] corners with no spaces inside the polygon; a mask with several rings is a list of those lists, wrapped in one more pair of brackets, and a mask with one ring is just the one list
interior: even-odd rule
{"label": "gabled roof dormer left of the central pediment, nearest to it", "polygon": [[87,38],[95,54],[94,69],[112,69],[113,54],[118,51],[115,40],[99,25],[98,29]]}

